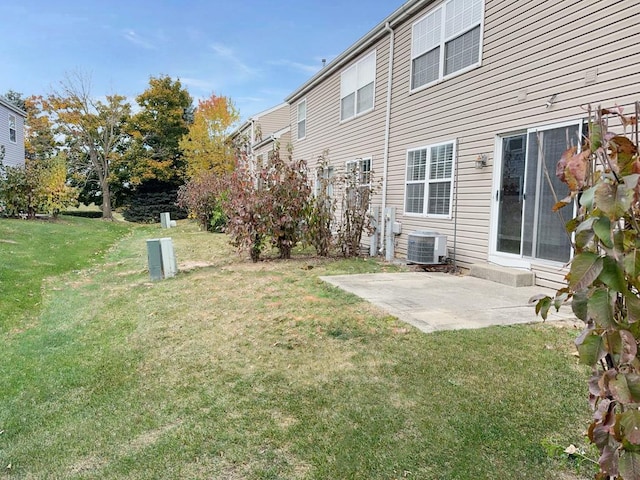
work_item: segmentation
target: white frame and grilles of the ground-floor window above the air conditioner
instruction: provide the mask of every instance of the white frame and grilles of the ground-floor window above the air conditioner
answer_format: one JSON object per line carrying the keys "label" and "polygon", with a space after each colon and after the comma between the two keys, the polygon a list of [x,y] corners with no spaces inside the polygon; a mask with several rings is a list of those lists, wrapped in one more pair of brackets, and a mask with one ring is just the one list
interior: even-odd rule
{"label": "white frame and grilles of the ground-floor window above the air conditioner", "polygon": [[[442,178],[430,178],[430,167],[431,167],[431,153],[433,149],[451,145],[451,171],[448,177]],[[425,163],[425,176],[423,180],[409,180],[409,155],[412,152],[419,152],[425,150],[427,157]],[[457,150],[457,142],[454,140],[433,143],[430,145],[425,145],[422,147],[411,148],[407,150],[407,155],[405,157],[405,181],[404,181],[404,199],[403,199],[403,211],[407,216],[415,216],[415,217],[429,217],[429,218],[451,218],[452,208],[453,208],[453,189],[455,188],[454,178],[455,178],[455,167],[456,167],[456,155],[458,154]],[[429,212],[429,190],[431,185],[440,184],[449,182],[449,210],[447,213],[428,213]],[[409,212],[407,211],[407,186],[408,185],[424,185],[424,195],[422,198],[422,211],[421,212]]]}

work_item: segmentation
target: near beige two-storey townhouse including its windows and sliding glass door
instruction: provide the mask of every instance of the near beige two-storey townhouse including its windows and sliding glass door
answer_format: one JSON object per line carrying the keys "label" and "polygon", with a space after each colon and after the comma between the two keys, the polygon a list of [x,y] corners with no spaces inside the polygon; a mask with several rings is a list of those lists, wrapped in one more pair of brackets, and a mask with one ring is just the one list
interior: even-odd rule
{"label": "near beige two-storey townhouse including its windows and sliding glass door", "polygon": [[294,157],[329,149],[331,168],[381,180],[387,258],[435,231],[460,267],[557,286],[572,252],[545,164],[562,197],[555,165],[587,106],[640,100],[634,3],[409,0],[286,98]]}

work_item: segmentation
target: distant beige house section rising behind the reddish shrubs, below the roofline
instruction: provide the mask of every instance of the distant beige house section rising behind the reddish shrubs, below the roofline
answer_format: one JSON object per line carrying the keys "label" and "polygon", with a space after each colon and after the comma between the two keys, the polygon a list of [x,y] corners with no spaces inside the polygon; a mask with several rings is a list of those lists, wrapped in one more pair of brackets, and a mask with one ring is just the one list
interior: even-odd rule
{"label": "distant beige house section rising behind the reddish shrubs, below the roofline", "polygon": [[264,164],[276,146],[287,151],[291,143],[289,104],[281,103],[251,116],[231,134],[234,141],[244,144],[250,165]]}

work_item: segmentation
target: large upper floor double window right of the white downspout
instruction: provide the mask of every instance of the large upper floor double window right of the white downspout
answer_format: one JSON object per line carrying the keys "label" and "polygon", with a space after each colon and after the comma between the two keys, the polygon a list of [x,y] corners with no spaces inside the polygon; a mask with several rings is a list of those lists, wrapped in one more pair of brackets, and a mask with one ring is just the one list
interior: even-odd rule
{"label": "large upper floor double window right of the white downspout", "polygon": [[413,24],[411,89],[480,63],[483,0],[448,0]]}

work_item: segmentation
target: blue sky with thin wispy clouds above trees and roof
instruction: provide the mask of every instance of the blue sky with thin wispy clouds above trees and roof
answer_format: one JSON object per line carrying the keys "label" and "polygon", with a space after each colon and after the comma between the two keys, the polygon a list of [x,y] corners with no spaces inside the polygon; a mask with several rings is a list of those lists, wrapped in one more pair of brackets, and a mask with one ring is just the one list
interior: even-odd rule
{"label": "blue sky with thin wispy clouds above trees and roof", "polygon": [[46,95],[73,72],[133,102],[150,76],[230,97],[243,118],[281,103],[404,0],[20,0],[0,6],[0,94]]}

